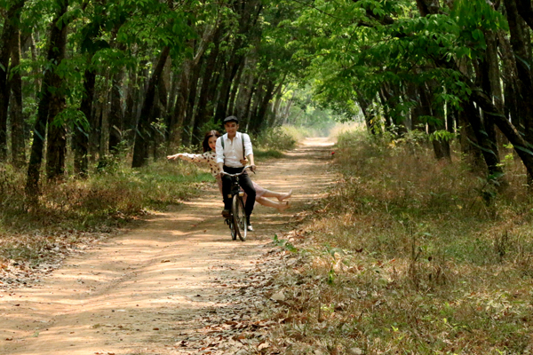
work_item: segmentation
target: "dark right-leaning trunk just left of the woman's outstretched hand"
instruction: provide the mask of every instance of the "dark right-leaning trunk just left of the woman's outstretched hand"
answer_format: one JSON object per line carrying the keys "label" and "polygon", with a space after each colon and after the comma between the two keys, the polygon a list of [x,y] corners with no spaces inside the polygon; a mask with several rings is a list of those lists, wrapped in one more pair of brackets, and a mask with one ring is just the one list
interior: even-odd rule
{"label": "dark right-leaning trunk just left of the woman's outstretched hand", "polygon": [[139,124],[137,125],[137,132],[135,135],[135,146],[133,147],[133,161],[132,168],[139,168],[147,163],[148,145],[153,132],[150,129],[150,113],[154,106],[155,86],[159,83],[159,77],[163,73],[163,67],[169,57],[170,47],[165,46],[159,55],[157,64],[154,68],[154,73],[150,77],[147,86],[147,94],[144,99],[142,109],[140,111]]}

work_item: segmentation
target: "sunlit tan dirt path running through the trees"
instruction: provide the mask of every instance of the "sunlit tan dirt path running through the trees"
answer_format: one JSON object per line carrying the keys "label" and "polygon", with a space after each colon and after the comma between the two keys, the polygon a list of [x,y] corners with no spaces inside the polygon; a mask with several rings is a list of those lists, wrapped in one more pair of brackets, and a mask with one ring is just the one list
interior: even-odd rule
{"label": "sunlit tan dirt path running through the trees", "polygon": [[230,305],[233,319],[253,316],[230,291],[232,282],[330,184],[329,146],[324,138],[306,139],[286,158],[259,162],[254,179],[276,191],[292,188],[292,208],[278,214],[258,206],[248,241],[231,241],[213,188],[68,258],[37,285],[0,292],[0,354],[197,353],[190,346],[206,336],[197,329],[217,309]]}

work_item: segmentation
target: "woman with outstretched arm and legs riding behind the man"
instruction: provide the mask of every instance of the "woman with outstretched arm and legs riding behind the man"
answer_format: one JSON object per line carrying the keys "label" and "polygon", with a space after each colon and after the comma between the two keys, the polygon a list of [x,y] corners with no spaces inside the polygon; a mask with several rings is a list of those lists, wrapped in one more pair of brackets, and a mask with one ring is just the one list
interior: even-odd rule
{"label": "woman with outstretched arm and legs riding behind the man", "polygon": [[[207,164],[211,169],[212,176],[215,177],[217,180],[220,193],[222,193],[222,180],[220,179],[219,165],[217,164],[216,160],[216,144],[217,138],[219,137],[220,133],[217,130],[210,130],[205,134],[205,137],[203,138],[203,154],[179,153],[174,155],[168,155],[167,159],[176,160],[179,158],[187,162],[202,162],[204,164]],[[246,165],[245,160],[242,160],[241,162],[243,163],[243,165]],[[289,193],[276,193],[274,191],[264,189],[253,181],[252,184],[256,190],[256,202],[258,202],[259,204],[278,209],[280,212],[290,207],[289,201],[283,200],[290,198],[292,190],[290,190]],[[272,201],[270,199],[267,199],[267,197],[275,197],[278,201]]]}

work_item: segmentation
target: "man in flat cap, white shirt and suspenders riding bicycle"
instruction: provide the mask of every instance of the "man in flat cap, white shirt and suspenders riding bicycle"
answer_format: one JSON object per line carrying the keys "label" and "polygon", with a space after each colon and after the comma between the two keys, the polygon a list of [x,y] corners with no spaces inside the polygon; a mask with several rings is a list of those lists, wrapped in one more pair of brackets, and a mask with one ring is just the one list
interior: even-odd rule
{"label": "man in flat cap, white shirt and suspenders riding bicycle", "polygon": [[[237,174],[243,171],[246,162],[249,162],[251,170],[255,170],[253,162],[253,150],[251,147],[250,136],[239,132],[239,120],[235,116],[228,116],[224,119],[224,128],[226,134],[217,139],[217,163],[220,171],[228,174]],[[239,176],[239,185],[243,187],[244,192],[248,195],[244,210],[248,222],[248,230],[253,231],[250,224],[251,211],[256,198],[256,191],[251,183],[251,178],[246,171]],[[231,193],[231,178],[222,175],[222,195],[224,197],[224,210],[222,216],[229,217],[231,209],[231,199],[228,194]]]}

